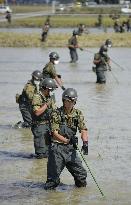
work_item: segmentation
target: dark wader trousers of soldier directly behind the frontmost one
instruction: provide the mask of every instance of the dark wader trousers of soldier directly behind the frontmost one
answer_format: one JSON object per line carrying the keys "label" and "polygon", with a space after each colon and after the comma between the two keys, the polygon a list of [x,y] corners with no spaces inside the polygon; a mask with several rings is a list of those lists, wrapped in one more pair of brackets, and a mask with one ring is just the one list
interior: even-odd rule
{"label": "dark wader trousers of soldier directly behind the frontmost one", "polygon": [[51,140],[49,125],[48,124],[32,125],[31,131],[34,135],[35,154],[48,155],[48,146]]}

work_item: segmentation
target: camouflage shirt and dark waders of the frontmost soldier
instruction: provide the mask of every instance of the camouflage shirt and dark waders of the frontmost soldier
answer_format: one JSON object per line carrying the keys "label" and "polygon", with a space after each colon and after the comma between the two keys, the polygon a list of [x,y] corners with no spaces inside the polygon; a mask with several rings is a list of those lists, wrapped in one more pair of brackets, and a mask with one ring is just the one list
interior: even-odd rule
{"label": "camouflage shirt and dark waders of the frontmost soldier", "polygon": [[[82,112],[75,108],[67,115],[62,106],[52,113],[51,119],[52,131],[58,130],[59,134],[69,139],[76,135],[77,129],[79,132],[87,130]],[[63,144],[52,139],[52,144],[49,146],[45,189],[55,188],[60,183],[59,177],[64,167],[74,177],[77,187],[86,186],[87,172],[82,166],[76,149],[70,143]]]}

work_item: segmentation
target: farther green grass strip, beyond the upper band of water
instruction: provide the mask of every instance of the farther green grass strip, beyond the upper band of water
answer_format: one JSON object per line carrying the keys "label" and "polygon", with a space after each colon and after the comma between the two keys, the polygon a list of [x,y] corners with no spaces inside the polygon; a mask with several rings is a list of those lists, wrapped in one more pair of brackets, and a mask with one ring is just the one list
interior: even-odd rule
{"label": "farther green grass strip, beyond the upper band of water", "polygon": [[[42,17],[31,17],[24,19],[13,19],[12,23],[9,25],[7,22],[0,22],[0,27],[39,27],[41,28],[46,20],[46,16]],[[127,17],[121,17],[120,23],[126,21]],[[98,22],[97,16],[59,16],[54,15],[51,16],[51,27],[76,27],[78,24],[83,23],[87,27],[95,27]],[[112,27],[114,24],[114,20],[109,16],[103,16],[103,26],[104,27]]]}

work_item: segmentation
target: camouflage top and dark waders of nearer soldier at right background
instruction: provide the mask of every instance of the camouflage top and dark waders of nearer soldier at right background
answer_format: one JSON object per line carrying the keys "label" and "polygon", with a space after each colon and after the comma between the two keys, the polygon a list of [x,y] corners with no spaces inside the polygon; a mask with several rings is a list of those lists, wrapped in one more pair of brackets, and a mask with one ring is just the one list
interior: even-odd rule
{"label": "camouflage top and dark waders of nearer soldier at right background", "polygon": [[100,62],[96,64],[95,72],[97,75],[96,83],[106,83],[105,71],[107,71],[109,56],[107,54],[96,53],[94,55],[94,60],[99,60]]}

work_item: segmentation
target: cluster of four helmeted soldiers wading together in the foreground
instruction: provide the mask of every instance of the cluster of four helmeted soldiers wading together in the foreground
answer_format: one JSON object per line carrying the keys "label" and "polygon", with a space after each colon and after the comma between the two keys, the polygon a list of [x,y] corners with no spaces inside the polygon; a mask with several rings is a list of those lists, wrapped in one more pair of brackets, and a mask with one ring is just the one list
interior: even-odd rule
{"label": "cluster of four helmeted soldiers wading together in the foreground", "polygon": [[[32,79],[25,85],[16,102],[24,122],[15,127],[30,128],[34,136],[35,157],[48,158],[45,189],[54,189],[60,184],[64,167],[72,174],[76,187],[86,186],[87,172],[77,154],[77,130],[83,141],[82,152],[88,154],[88,130],[84,116],[75,108],[78,94],[74,88],[65,88],[61,76],[56,73],[59,63],[56,52],[49,54],[42,72],[35,70]],[[58,87],[63,90],[61,107],[57,107],[54,94]]]}

